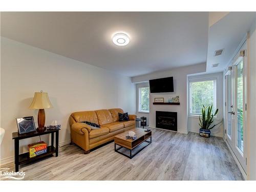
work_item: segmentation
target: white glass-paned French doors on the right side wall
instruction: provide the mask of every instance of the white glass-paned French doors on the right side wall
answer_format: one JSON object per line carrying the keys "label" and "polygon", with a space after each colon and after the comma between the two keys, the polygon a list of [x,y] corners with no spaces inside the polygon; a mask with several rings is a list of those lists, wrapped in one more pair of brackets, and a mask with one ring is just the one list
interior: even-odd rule
{"label": "white glass-paned French doors on the right side wall", "polygon": [[[243,46],[245,48],[245,45]],[[226,129],[225,137],[246,172],[246,50],[234,57],[233,65],[225,75]]]}

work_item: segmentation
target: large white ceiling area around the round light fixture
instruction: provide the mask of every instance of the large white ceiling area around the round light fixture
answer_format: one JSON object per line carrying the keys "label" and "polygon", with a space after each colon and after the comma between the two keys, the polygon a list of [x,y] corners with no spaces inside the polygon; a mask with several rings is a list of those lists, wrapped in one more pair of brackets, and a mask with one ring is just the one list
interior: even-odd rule
{"label": "large white ceiling area around the round light fixture", "polygon": [[208,12],[2,12],[1,36],[137,76],[206,62]]}

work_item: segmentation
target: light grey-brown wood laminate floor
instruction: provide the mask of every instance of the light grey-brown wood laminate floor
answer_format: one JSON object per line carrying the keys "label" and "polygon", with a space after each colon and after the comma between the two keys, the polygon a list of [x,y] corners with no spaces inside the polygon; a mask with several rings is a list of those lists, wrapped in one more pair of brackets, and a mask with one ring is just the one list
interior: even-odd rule
{"label": "light grey-brown wood laminate floor", "polygon": [[[59,156],[20,165],[25,180],[243,180],[220,137],[180,134],[152,128],[152,143],[133,159],[114,152],[114,142],[88,155],[76,145]],[[14,170],[14,164],[6,164]]]}

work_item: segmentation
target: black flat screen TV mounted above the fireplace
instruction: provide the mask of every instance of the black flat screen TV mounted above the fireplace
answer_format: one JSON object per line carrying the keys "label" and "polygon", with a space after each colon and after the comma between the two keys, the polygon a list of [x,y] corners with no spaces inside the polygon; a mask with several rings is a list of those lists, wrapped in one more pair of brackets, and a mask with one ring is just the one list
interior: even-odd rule
{"label": "black flat screen TV mounted above the fireplace", "polygon": [[150,80],[151,93],[174,92],[174,78],[166,77],[161,79]]}

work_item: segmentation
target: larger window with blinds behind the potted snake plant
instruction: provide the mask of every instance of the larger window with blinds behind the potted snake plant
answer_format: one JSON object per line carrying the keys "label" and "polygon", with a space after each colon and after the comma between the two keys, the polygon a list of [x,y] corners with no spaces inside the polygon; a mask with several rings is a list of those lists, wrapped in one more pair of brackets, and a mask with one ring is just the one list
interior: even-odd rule
{"label": "larger window with blinds behind the potted snake plant", "polygon": [[189,81],[189,115],[201,115],[202,106],[217,109],[216,79]]}

